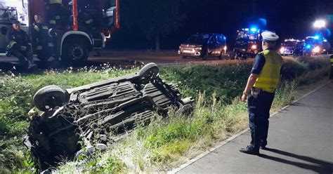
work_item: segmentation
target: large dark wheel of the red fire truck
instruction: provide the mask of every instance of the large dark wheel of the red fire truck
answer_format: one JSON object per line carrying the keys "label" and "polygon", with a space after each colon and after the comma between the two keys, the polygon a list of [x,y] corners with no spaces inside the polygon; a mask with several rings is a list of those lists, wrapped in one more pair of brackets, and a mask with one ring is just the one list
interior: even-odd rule
{"label": "large dark wheel of the red fire truck", "polygon": [[81,39],[72,39],[63,46],[63,64],[80,66],[88,59],[88,48],[86,42]]}

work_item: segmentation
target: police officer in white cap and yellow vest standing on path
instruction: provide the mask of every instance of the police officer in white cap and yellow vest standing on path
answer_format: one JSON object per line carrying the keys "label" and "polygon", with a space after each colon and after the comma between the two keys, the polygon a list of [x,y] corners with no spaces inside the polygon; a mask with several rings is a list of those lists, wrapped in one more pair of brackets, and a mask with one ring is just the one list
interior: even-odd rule
{"label": "police officer in white cap and yellow vest standing on path", "polygon": [[273,32],[263,32],[261,36],[263,51],[256,55],[242,95],[243,102],[247,99],[252,141],[250,145],[240,149],[240,152],[256,155],[259,154],[259,147],[264,149],[267,145],[269,111],[280,81],[283,63],[282,57],[273,51],[279,36]]}

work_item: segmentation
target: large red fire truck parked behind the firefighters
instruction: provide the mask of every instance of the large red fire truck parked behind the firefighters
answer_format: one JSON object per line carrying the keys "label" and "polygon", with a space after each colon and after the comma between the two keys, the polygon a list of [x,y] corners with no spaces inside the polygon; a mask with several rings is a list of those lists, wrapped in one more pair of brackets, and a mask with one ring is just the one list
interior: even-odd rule
{"label": "large red fire truck parked behind the firefighters", "polygon": [[[47,23],[48,13],[45,0],[0,0],[0,53],[6,50],[6,32],[14,20],[20,21],[31,36],[34,15],[41,15]],[[119,28],[119,0],[63,0],[60,13],[63,21],[53,28],[57,34],[55,54],[65,66],[84,63],[89,52],[104,48],[105,41]],[[91,29],[84,26],[83,13],[91,16]]]}

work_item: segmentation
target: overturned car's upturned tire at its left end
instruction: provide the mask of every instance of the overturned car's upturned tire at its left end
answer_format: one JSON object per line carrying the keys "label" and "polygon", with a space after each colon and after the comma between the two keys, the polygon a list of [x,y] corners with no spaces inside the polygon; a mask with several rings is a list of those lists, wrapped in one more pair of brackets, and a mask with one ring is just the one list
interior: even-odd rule
{"label": "overturned car's upturned tire at its left end", "polygon": [[59,86],[45,86],[34,94],[33,100],[37,109],[46,112],[49,109],[63,106],[66,94]]}

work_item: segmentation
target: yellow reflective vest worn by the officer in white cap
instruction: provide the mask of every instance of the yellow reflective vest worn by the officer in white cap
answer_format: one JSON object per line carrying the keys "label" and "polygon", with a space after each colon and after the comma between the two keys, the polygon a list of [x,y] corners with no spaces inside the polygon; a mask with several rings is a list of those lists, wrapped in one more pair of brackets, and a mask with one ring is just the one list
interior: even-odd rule
{"label": "yellow reflective vest worn by the officer in white cap", "polygon": [[265,57],[265,65],[254,83],[255,88],[274,93],[280,81],[280,71],[283,64],[281,55],[275,51],[262,51]]}

